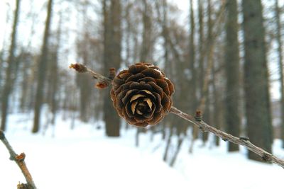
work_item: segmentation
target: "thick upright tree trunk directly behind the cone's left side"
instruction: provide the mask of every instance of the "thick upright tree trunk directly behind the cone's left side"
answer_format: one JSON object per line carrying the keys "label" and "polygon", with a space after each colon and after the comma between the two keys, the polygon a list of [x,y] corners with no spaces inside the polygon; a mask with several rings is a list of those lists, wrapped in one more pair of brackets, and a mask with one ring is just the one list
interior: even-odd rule
{"label": "thick upright tree trunk directly behind the cone's left side", "polygon": [[[121,3],[111,0],[110,7],[107,0],[103,2],[104,13],[104,74],[109,74],[109,68],[118,69],[121,64]],[[116,114],[109,91],[104,95],[104,121],[106,134],[109,137],[119,137],[120,119]]]}

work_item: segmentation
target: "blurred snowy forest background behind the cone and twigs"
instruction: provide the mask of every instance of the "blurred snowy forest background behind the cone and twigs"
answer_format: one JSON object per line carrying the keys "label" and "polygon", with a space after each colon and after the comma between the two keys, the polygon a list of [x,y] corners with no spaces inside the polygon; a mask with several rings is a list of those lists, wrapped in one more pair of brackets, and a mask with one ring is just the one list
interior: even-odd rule
{"label": "blurred snowy forest background behind the cone and twigs", "polygon": [[[40,188],[48,181],[67,188],[60,176],[66,153],[87,167],[97,162],[75,167],[68,188],[82,188],[76,182],[85,188],[137,182],[141,188],[217,188],[220,178],[234,181],[232,188],[280,188],[281,168],[175,115],[148,129],[128,125],[112,107],[109,88],[94,88],[92,76],[68,66],[80,62],[108,75],[111,67],[151,62],[175,84],[175,107],[191,115],[202,110],[209,125],[249,137],[283,159],[283,12],[283,0],[1,0],[1,130],[33,156],[29,164]],[[39,168],[43,153],[57,156],[49,161],[62,172]],[[82,154],[93,160],[84,162]],[[7,159],[1,159],[8,172],[0,178],[11,171]],[[43,168],[53,178],[43,176]],[[228,171],[234,173],[222,174]],[[89,183],[89,174],[100,182]],[[6,188],[15,179],[6,180]]]}

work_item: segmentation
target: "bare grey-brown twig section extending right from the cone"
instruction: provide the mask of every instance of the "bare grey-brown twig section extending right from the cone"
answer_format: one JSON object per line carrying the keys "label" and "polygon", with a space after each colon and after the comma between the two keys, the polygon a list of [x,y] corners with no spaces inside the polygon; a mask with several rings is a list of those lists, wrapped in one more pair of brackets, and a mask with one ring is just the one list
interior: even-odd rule
{"label": "bare grey-brown twig section extending right from the cone", "polygon": [[187,113],[183,113],[181,110],[178,110],[178,108],[172,107],[170,108],[170,113],[173,113],[175,115],[178,115],[180,118],[183,118],[189,122],[192,122],[193,125],[196,125],[200,128],[200,130],[204,132],[212,132],[213,134],[217,135],[218,137],[221,137],[224,141],[233,142],[234,144],[239,144],[241,146],[246,147],[250,151],[253,151],[254,153],[261,156],[261,159],[263,161],[272,162],[274,164],[278,164],[278,166],[281,166],[284,168],[284,161],[282,159],[279,159],[276,156],[273,156],[273,154],[268,153],[264,149],[261,149],[260,147],[256,147],[256,145],[252,144],[249,141],[249,138],[244,137],[234,137],[231,134],[228,134],[226,132],[223,132],[221,130],[218,130],[215,127],[212,127],[208,125],[206,122],[202,120],[197,120],[192,115],[188,115]]}

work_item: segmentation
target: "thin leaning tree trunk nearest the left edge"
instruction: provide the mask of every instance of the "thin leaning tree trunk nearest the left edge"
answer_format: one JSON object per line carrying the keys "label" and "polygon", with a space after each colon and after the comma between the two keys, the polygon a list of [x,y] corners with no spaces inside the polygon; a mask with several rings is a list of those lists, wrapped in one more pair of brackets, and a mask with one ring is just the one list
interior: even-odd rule
{"label": "thin leaning tree trunk nearest the left edge", "polygon": [[16,0],[16,10],[13,18],[13,29],[11,33],[11,45],[8,57],[8,67],[6,69],[6,78],[4,84],[4,90],[1,96],[1,130],[6,130],[6,118],[9,108],[9,96],[13,88],[13,70],[16,68],[17,62],[15,61],[15,50],[16,50],[16,33],[18,25],[18,16],[20,10],[20,0]]}

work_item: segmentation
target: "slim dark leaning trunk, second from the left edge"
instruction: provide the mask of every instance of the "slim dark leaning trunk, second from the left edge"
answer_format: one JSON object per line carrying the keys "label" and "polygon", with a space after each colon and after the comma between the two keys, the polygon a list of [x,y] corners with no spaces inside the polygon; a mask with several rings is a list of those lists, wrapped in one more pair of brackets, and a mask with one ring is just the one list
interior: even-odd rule
{"label": "slim dark leaning trunk, second from the left edge", "polygon": [[53,0],[48,0],[48,13],[45,21],[45,31],[43,35],[43,45],[41,47],[40,58],[38,61],[38,83],[35,93],[33,133],[38,132],[40,128],[40,112],[43,105],[43,88],[45,84],[46,67],[48,64],[48,39],[50,37],[50,23],[52,14]]}

